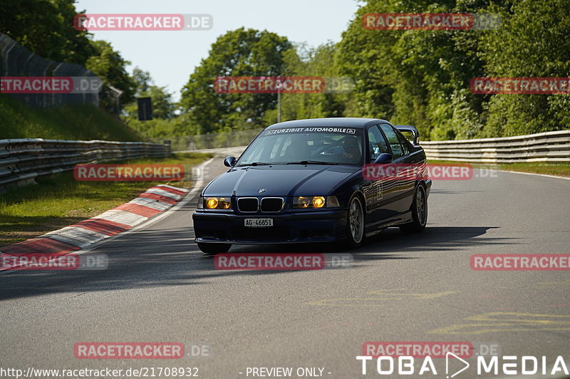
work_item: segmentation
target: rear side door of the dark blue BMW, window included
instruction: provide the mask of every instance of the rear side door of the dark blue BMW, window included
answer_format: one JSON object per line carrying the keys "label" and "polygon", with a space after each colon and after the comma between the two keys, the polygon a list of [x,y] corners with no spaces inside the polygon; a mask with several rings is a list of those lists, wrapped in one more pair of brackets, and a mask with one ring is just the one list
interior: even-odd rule
{"label": "rear side door of the dark blue BMW, window included", "polygon": [[[410,149],[408,145],[403,145],[402,142],[400,142],[398,130],[395,130],[395,128],[388,123],[381,123],[379,126],[388,141],[388,146],[390,147],[395,167],[398,167],[399,169],[411,168],[407,167],[409,165],[407,157],[410,153]],[[393,192],[393,197],[395,197],[395,212],[405,212],[410,209],[408,199],[410,197],[410,191],[413,194],[415,182],[413,177],[406,175],[404,170],[397,171],[399,172],[398,175],[396,175],[393,180],[390,180],[390,191]]]}

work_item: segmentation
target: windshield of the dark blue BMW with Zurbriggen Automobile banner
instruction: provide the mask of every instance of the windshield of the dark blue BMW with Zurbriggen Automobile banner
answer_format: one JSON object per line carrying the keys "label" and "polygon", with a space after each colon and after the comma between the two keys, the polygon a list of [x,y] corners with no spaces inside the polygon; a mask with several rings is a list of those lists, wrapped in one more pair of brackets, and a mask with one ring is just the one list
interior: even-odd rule
{"label": "windshield of the dark blue BMW with Zurbriggen Automobile banner", "polygon": [[362,165],[362,130],[281,128],[264,130],[237,161],[247,165]]}

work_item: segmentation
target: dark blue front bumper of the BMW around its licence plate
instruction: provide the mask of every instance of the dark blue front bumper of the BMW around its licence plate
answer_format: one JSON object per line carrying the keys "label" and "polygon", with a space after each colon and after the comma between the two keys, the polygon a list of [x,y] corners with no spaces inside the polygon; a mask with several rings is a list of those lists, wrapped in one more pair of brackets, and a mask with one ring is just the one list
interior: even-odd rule
{"label": "dark blue front bumper of the BMW around its licence plate", "polygon": [[[273,227],[244,227],[244,219],[271,218]],[[346,237],[346,210],[284,214],[192,214],[196,242],[226,244],[294,244],[333,242]]]}

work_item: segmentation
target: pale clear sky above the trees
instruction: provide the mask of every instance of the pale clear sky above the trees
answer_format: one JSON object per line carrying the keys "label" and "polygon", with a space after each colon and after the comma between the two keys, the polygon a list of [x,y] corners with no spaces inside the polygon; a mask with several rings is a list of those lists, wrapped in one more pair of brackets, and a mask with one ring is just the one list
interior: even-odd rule
{"label": "pale clear sky above the trees", "polygon": [[318,46],[338,42],[358,9],[356,0],[78,0],[86,14],[210,14],[209,31],[93,31],[131,62],[128,71],[149,71],[156,85],[180,99],[180,90],[209,47],[244,26]]}

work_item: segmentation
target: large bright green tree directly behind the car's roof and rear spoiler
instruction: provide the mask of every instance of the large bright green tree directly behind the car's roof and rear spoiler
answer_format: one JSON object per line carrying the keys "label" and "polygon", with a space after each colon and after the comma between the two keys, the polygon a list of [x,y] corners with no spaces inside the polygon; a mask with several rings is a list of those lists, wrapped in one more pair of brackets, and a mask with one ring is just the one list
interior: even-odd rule
{"label": "large bright green tree directly behind the car's roof and rear spoiler", "polygon": [[[339,43],[342,71],[358,78],[362,115],[412,124],[423,137],[455,139],[482,133],[487,98],[471,93],[484,73],[482,37],[489,31],[385,30],[362,27],[367,13],[486,13],[504,1],[369,0]],[[512,31],[509,31],[512,33]],[[355,109],[351,109],[354,113]]]}

